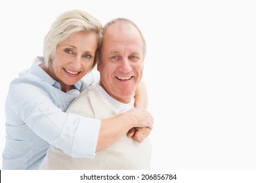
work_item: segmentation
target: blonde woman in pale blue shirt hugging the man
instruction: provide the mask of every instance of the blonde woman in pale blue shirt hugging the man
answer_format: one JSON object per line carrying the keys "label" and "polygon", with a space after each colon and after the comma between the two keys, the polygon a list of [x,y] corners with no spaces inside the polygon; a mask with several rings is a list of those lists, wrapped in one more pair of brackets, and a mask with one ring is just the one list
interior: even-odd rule
{"label": "blonde woman in pale blue shirt hugging the man", "polygon": [[133,129],[129,136],[136,137],[133,127],[152,129],[152,116],[142,108],[106,120],[64,112],[85,88],[81,78],[96,64],[101,28],[86,12],[64,12],[45,37],[44,59],[11,82],[3,169],[38,169],[50,144],[72,157],[93,158],[120,133]]}

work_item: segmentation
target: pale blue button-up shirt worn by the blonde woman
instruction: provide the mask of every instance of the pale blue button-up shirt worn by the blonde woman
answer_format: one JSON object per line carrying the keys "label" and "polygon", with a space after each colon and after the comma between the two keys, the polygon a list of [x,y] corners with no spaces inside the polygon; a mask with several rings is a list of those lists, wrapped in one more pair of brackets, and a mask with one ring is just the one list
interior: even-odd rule
{"label": "pale blue button-up shirt worn by the blonde woman", "polygon": [[50,144],[73,157],[94,158],[100,120],[64,112],[85,87],[80,80],[64,93],[37,63],[12,80],[2,169],[38,169]]}

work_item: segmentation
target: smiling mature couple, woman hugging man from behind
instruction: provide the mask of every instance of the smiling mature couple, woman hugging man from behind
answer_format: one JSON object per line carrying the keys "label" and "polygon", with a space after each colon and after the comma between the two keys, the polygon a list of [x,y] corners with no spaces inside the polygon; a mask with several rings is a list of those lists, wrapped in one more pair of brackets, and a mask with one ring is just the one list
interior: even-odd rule
{"label": "smiling mature couple, woman hugging man from behind", "polygon": [[[11,82],[3,169],[150,169],[139,27],[117,18],[102,29],[72,10],[53,23],[43,49],[43,61]],[[95,65],[100,81],[85,89],[81,78]]]}

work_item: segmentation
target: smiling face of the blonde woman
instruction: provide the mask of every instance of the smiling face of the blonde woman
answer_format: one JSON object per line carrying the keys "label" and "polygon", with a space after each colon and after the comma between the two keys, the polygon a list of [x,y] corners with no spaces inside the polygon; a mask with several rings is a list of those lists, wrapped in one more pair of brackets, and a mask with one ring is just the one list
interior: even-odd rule
{"label": "smiling face of the blonde woman", "polygon": [[68,92],[91,69],[95,60],[98,39],[95,33],[77,32],[56,46],[49,75],[63,92]]}

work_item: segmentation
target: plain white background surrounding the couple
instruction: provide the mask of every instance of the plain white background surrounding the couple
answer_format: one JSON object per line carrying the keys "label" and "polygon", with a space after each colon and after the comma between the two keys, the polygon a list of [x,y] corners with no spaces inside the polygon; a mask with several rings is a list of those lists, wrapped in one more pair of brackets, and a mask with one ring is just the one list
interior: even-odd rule
{"label": "plain white background surrounding the couple", "polygon": [[246,0],[2,2],[0,152],[9,83],[42,56],[56,16],[72,9],[142,29],[152,169],[256,169],[256,6]]}

